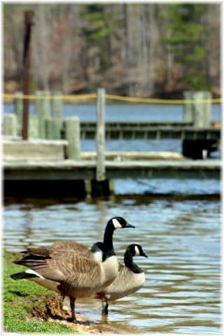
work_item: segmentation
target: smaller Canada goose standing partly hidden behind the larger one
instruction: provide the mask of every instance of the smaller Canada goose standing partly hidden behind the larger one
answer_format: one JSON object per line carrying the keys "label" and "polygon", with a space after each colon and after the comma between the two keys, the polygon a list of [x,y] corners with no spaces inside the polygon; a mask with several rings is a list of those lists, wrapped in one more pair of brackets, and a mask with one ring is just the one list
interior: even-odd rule
{"label": "smaller Canada goose standing partly hidden behind the larger one", "polygon": [[125,251],[125,266],[119,263],[116,279],[104,290],[94,295],[94,298],[102,300],[102,315],[108,314],[108,301],[118,300],[139,290],[145,282],[143,270],[137,266],[133,257],[143,255],[148,258],[140,245],[131,244]]}

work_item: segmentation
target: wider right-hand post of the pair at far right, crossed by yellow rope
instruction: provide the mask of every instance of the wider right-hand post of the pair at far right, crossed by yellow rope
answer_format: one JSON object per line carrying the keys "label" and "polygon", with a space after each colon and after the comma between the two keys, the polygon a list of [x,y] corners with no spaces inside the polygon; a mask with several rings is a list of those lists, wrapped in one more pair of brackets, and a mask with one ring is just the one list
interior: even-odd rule
{"label": "wider right-hand post of the pair at far right, crossed by yellow rope", "polygon": [[211,92],[194,92],[193,99],[193,125],[195,127],[209,127],[211,123],[211,102],[202,103],[200,101],[211,99]]}

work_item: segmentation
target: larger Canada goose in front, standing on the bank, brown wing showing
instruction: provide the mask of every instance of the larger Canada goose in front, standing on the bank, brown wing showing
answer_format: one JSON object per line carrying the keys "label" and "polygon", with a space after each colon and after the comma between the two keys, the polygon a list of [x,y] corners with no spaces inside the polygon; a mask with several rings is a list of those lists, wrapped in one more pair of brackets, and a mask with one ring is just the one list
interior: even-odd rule
{"label": "larger Canada goose in front, standing on the bank, brown wing showing", "polygon": [[113,231],[134,228],[122,217],[113,217],[104,232],[102,262],[87,258],[70,249],[27,248],[15,264],[29,267],[25,272],[10,275],[15,280],[29,279],[64,296],[69,296],[71,321],[78,323],[75,314],[76,297],[89,297],[103,290],[118,274],[118,259],[113,249]]}

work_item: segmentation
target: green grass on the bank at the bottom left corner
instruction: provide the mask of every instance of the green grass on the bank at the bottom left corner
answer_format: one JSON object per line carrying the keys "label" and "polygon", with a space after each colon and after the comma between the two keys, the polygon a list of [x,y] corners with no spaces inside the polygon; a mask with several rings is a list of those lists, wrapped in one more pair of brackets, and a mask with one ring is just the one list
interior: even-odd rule
{"label": "green grass on the bank at the bottom left corner", "polygon": [[[44,295],[57,295],[33,281],[10,278],[10,274],[24,271],[25,267],[13,264],[21,255],[3,253],[3,328],[8,332],[74,333],[67,325],[57,322],[32,321],[31,311],[44,311]],[[33,319],[34,320],[34,319]]]}

